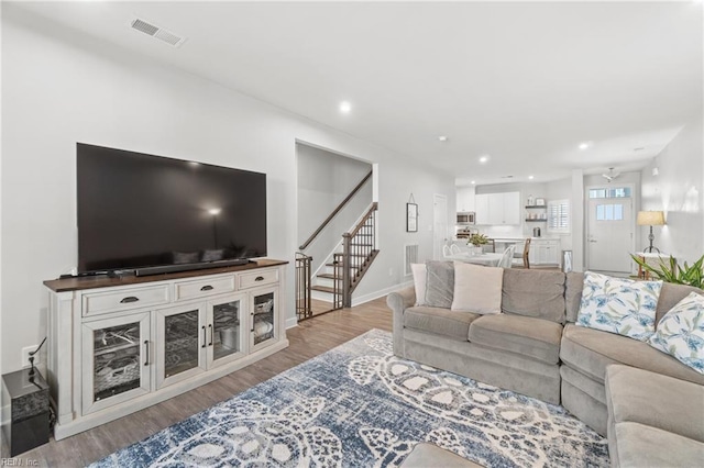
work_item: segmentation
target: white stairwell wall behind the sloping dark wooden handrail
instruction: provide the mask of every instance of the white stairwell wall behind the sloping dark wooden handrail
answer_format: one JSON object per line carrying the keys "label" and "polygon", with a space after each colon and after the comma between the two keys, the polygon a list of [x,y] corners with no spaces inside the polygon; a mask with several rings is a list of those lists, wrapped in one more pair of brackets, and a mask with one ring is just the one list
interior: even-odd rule
{"label": "white stairwell wall behind the sloping dark wooden handrail", "polygon": [[[308,145],[297,144],[298,241],[301,245],[372,170],[372,165]],[[342,239],[342,234],[372,204],[370,178],[326,229],[304,249],[315,272]]]}

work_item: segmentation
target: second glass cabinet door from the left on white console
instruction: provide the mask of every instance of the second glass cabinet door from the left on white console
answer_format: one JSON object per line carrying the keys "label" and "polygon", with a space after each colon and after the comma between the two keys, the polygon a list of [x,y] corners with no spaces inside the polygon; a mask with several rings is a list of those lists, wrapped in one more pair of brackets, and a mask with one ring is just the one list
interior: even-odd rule
{"label": "second glass cabinet door from the left on white console", "polygon": [[201,307],[156,312],[156,387],[161,388],[206,369],[204,350],[212,341]]}

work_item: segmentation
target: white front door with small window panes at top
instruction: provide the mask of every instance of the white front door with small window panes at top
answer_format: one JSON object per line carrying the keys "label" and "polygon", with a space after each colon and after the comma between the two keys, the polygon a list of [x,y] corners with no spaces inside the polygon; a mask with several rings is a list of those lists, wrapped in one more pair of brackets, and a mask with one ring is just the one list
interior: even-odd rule
{"label": "white front door with small window panes at top", "polygon": [[[634,250],[632,198],[597,198],[614,193],[612,187],[591,189],[587,194],[587,268],[597,271],[630,272]],[[630,194],[630,191],[628,191]]]}

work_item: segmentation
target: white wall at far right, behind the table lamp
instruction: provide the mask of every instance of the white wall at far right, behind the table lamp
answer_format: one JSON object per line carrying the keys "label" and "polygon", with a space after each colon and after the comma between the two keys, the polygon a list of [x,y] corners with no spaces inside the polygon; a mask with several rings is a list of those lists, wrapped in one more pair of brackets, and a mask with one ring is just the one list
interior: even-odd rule
{"label": "white wall at far right, behind the table lamp", "polygon": [[[704,255],[704,148],[702,115],[685,125],[642,170],[641,210],[663,210],[664,226],[654,226],[654,245],[689,264]],[[658,168],[658,175],[652,169]],[[644,243],[647,226],[640,227]]]}

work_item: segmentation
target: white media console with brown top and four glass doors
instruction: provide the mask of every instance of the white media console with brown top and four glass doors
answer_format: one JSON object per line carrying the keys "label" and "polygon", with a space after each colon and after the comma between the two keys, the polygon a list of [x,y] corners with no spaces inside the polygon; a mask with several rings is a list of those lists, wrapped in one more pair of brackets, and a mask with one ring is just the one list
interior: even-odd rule
{"label": "white media console with brown top and four glass doors", "polygon": [[62,439],[288,346],[286,261],[45,281],[47,381]]}

